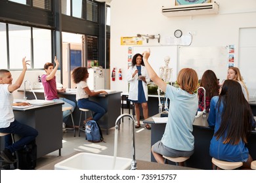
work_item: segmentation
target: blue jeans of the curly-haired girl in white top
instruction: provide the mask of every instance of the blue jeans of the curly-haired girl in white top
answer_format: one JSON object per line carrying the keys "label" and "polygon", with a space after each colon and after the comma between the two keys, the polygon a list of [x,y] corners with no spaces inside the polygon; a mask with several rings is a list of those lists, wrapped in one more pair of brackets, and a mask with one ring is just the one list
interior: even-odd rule
{"label": "blue jeans of the curly-haired girl in white top", "polygon": [[93,114],[93,120],[95,120],[96,122],[98,122],[98,120],[100,120],[100,118],[106,113],[106,110],[101,107],[98,103],[96,103],[95,101],[89,101],[89,99],[79,99],[77,101],[77,106],[79,108],[87,108],[93,112],[95,112],[95,114]]}

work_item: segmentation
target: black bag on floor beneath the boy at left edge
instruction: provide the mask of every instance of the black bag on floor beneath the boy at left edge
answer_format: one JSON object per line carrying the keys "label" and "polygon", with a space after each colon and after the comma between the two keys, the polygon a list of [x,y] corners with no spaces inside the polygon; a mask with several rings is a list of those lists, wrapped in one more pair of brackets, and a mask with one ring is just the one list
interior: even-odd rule
{"label": "black bag on floor beneath the boy at left edge", "polygon": [[33,170],[37,163],[37,145],[35,140],[26,144],[24,148],[18,150],[18,169]]}

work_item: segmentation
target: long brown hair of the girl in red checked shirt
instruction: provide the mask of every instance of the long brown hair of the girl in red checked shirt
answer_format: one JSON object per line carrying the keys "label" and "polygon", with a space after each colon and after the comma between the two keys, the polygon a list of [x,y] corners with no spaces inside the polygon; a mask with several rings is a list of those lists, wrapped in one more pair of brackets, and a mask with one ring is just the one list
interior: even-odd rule
{"label": "long brown hair of the girl in red checked shirt", "polygon": [[205,89],[206,97],[211,97],[219,95],[219,85],[217,76],[211,70],[207,70],[203,73],[200,86]]}

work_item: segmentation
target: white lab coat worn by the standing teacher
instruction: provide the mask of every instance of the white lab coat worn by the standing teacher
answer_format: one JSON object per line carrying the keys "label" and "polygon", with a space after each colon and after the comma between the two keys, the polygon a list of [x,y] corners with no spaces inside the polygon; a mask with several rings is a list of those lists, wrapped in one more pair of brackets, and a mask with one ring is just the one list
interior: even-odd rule
{"label": "white lab coat worn by the standing teacher", "polygon": [[[133,101],[138,100],[138,82],[139,82],[138,74],[132,78],[135,70],[137,70],[136,65],[135,65],[135,67],[133,67],[133,66],[129,67],[127,76],[126,76],[127,81],[130,83],[128,99],[131,99]],[[143,90],[145,93],[146,101],[148,101],[148,86],[147,86],[147,84],[148,84],[148,82],[150,82],[150,77],[148,76],[148,73],[146,72],[146,67],[144,67],[143,65],[141,65],[141,75],[146,76],[146,83],[142,81],[142,87],[143,87]]]}

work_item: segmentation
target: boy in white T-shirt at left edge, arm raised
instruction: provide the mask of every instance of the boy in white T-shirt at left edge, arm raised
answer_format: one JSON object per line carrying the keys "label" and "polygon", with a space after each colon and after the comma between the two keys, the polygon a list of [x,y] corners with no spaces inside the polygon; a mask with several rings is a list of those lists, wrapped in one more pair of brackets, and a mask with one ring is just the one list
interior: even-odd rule
{"label": "boy in white T-shirt at left edge, arm raised", "polygon": [[[33,127],[17,122],[14,119],[12,110],[12,92],[20,88],[27,70],[27,64],[29,65],[28,61],[23,58],[22,73],[20,73],[20,76],[14,84],[12,84],[12,75],[10,71],[0,69],[0,133],[10,133],[9,135],[5,135],[5,150],[1,151],[0,156],[7,163],[14,162],[12,153],[22,149],[26,144],[32,142],[38,135],[37,130],[33,129]],[[28,104],[21,103],[20,105]],[[11,133],[20,136],[20,140],[12,144]]]}

